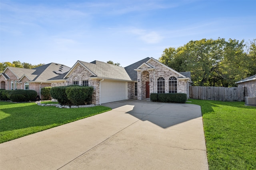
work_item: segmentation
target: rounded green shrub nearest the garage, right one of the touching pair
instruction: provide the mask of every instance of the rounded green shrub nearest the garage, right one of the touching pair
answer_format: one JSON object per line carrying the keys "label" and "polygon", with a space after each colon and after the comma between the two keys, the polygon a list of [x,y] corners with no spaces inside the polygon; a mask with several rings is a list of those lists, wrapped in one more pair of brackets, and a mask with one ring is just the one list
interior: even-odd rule
{"label": "rounded green shrub nearest the garage, right one of the touching pair", "polygon": [[89,86],[70,86],[66,88],[66,94],[68,100],[73,105],[89,104],[92,101],[93,87]]}

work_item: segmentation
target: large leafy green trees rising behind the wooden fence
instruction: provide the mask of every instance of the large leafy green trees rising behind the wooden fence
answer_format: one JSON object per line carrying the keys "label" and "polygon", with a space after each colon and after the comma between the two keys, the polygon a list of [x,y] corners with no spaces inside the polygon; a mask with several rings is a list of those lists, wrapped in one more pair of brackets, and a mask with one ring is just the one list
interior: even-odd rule
{"label": "large leafy green trees rising behind the wooden fence", "polygon": [[190,71],[196,86],[230,87],[256,74],[255,40],[248,53],[246,47],[244,40],[201,39],[165,49],[159,61],[178,72]]}

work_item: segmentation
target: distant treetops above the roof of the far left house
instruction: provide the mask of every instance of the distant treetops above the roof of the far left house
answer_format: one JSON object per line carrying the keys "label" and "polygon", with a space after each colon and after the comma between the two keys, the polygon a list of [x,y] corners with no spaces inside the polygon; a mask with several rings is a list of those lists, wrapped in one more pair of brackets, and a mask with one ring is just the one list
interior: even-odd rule
{"label": "distant treetops above the roof of the far left house", "polygon": [[44,64],[36,64],[32,65],[30,63],[21,63],[20,61],[13,61],[12,63],[10,62],[2,62],[0,63],[0,72],[3,72],[8,66],[10,67],[18,67],[18,68],[36,68],[38,66],[42,66]]}

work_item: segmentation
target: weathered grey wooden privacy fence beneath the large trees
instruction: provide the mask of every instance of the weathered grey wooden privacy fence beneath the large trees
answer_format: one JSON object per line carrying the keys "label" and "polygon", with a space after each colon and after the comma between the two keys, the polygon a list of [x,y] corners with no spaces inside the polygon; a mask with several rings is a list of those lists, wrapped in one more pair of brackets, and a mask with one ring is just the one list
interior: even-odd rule
{"label": "weathered grey wooden privacy fence beneath the large trees", "polygon": [[190,86],[189,97],[200,100],[244,101],[246,87]]}

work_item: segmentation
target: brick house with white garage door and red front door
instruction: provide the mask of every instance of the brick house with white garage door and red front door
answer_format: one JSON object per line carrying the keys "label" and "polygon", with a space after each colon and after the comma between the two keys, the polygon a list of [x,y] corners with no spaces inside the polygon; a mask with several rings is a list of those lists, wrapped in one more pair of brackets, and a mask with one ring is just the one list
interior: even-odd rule
{"label": "brick house with white garage door and red front door", "polygon": [[146,58],[120,67],[101,61],[77,61],[66,73],[47,80],[52,86],[93,86],[93,104],[150,98],[150,93],[186,93],[190,72],[176,72],[156,59]]}

